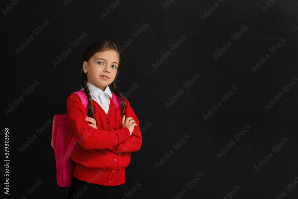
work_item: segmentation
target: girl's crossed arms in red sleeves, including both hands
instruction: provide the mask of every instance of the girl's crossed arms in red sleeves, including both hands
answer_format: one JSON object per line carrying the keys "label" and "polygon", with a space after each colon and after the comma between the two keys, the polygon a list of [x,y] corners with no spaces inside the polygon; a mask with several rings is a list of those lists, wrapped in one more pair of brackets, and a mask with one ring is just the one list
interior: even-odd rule
{"label": "girl's crossed arms in red sleeves, including both hands", "polygon": [[[139,121],[126,98],[122,127],[118,130],[97,129],[95,119],[87,117],[86,108],[79,99],[71,99],[71,102],[72,104],[68,103],[67,105],[68,123],[77,141],[84,138],[84,141],[80,143],[83,148],[109,149],[115,153],[133,152],[140,149],[142,136]],[[82,112],[82,110],[84,111]],[[77,120],[77,117],[85,118],[85,121]]]}

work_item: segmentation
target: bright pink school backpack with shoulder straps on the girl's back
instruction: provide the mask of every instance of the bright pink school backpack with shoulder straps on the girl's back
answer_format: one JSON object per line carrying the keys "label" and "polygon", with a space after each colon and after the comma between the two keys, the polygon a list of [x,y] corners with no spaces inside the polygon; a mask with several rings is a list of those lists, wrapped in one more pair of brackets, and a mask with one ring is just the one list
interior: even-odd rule
{"label": "bright pink school backpack with shoulder straps on the girl's back", "polygon": [[[87,108],[88,99],[85,91],[80,90],[73,92],[72,94],[77,95],[80,101]],[[122,101],[114,92],[112,92],[112,100],[116,107],[121,111]],[[57,168],[57,183],[58,186],[70,187],[72,182],[73,173],[75,170],[76,163],[69,158],[77,140],[72,136],[72,140],[66,149],[66,139],[69,133],[69,127],[67,125],[67,114],[54,115],[53,127],[52,127],[52,148],[55,153],[56,168]]]}

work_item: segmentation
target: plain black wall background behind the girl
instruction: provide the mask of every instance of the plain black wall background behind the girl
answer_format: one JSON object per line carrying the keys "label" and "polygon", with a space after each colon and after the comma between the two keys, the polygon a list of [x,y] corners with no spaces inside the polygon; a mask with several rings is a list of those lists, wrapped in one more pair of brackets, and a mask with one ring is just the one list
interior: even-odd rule
{"label": "plain black wall background behind the girl", "polygon": [[[66,114],[67,97],[81,89],[79,65],[89,44],[108,39],[123,46],[130,38],[133,42],[121,54],[117,88],[125,93],[139,85],[127,98],[140,128],[146,122],[152,125],[143,129],[142,147],[131,153],[125,169],[127,191],[135,183],[142,184],[129,198],[229,198],[226,194],[233,195],[234,186],[241,188],[232,198],[297,198],[298,185],[292,182],[298,175],[298,85],[283,90],[298,74],[297,1],[271,0],[266,10],[265,0],[119,2],[103,18],[115,1],[17,1],[5,16],[3,10],[12,1],[1,1],[1,129],[9,128],[10,160],[5,198],[67,197],[69,188],[56,182],[52,125],[40,135],[36,129],[55,114]],[[166,2],[171,4],[164,8]],[[219,6],[211,13],[215,3]],[[208,10],[211,14],[202,21]],[[43,20],[50,23],[36,36],[33,30]],[[132,34],[142,23],[149,26],[135,38]],[[241,26],[248,29],[232,40]],[[88,36],[73,48],[71,43],[82,32]],[[15,49],[30,35],[34,39],[17,53]],[[187,38],[172,51],[170,46],[181,35]],[[286,41],[271,54],[269,49],[280,38]],[[229,41],[232,45],[215,60],[214,54]],[[55,67],[53,61],[69,47],[72,52]],[[154,69],[152,64],[167,51],[171,54]],[[266,53],[270,58],[253,72],[255,62]],[[200,75],[194,82],[193,74]],[[23,91],[36,80],[40,84],[25,96]],[[189,81],[193,84],[186,89],[183,85]],[[224,102],[221,97],[229,95],[231,87],[238,90]],[[174,97],[181,89],[180,97]],[[283,96],[266,111],[264,106],[279,92]],[[20,96],[24,99],[7,115],[5,109]],[[176,101],[167,107],[173,97]],[[205,120],[203,115],[218,102],[222,106]],[[234,135],[244,125],[251,128],[237,141]],[[19,147],[34,134],[37,138],[20,152]],[[174,148],[186,134],[190,138]],[[274,153],[272,147],[285,137],[288,141]],[[4,134],[2,139],[4,147]],[[235,144],[218,159],[217,153],[231,141]],[[174,154],[157,169],[155,163],[170,150]],[[270,152],[273,157],[256,171]],[[4,163],[0,165],[3,183]],[[203,176],[189,189],[187,183],[196,173]],[[43,182],[29,195],[26,190],[39,179]],[[177,192],[183,189],[187,192],[180,197]]]}

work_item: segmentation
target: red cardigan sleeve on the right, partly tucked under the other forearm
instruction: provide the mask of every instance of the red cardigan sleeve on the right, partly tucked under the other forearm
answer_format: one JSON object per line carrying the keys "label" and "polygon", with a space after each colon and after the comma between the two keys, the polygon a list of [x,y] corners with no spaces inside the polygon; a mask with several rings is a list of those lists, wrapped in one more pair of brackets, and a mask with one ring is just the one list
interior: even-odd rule
{"label": "red cardigan sleeve on the right, partly tucked under the other forearm", "polygon": [[126,104],[125,111],[124,111],[125,118],[128,118],[128,117],[134,118],[134,121],[136,121],[137,126],[134,127],[134,130],[131,136],[126,141],[123,141],[117,144],[111,149],[115,153],[138,151],[141,148],[141,144],[142,144],[142,135],[141,135],[139,120],[136,117],[136,114],[134,113],[133,109],[131,108],[126,98],[125,98],[125,104]]}

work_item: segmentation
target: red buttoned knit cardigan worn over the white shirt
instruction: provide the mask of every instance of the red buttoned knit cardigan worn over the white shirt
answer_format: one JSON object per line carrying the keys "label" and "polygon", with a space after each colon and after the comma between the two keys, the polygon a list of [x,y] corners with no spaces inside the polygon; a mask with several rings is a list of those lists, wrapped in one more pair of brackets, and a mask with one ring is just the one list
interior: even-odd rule
{"label": "red buttoned knit cardigan worn over the white shirt", "polygon": [[72,135],[77,140],[70,155],[77,163],[74,176],[85,182],[105,186],[123,184],[125,183],[125,167],[130,163],[130,152],[138,151],[142,144],[138,118],[125,98],[125,118],[132,117],[137,124],[129,136],[129,129],[121,128],[120,110],[111,97],[108,114],[96,101],[91,100],[91,103],[94,107],[97,129],[88,126],[90,123],[85,119],[87,110],[80,102],[80,98],[71,94],[67,99],[69,134],[66,147]]}

